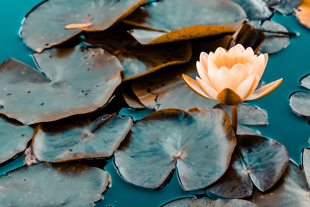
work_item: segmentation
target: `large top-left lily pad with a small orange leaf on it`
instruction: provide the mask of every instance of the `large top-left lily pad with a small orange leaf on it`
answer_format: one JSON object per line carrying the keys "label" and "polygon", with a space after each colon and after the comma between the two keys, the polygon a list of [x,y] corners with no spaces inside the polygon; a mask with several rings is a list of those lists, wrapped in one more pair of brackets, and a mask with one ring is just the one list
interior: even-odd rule
{"label": "large top-left lily pad with a small orange leaf on it", "polygon": [[[104,30],[125,18],[146,0],[84,1],[47,0],[24,18],[20,36],[37,52],[50,48],[84,31]],[[67,25],[71,28],[65,29]]]}

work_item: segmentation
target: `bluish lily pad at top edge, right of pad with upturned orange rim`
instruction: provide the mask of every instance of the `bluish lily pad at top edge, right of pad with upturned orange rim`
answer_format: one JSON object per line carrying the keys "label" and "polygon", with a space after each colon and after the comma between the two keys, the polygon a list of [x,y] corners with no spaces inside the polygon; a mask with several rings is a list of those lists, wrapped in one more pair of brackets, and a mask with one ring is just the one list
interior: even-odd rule
{"label": "bluish lily pad at top edge, right of pad with upturned orange rim", "polygon": [[268,8],[266,3],[262,0],[232,0],[239,4],[244,11],[246,11],[246,15],[249,20],[267,20],[272,15],[273,12]]}

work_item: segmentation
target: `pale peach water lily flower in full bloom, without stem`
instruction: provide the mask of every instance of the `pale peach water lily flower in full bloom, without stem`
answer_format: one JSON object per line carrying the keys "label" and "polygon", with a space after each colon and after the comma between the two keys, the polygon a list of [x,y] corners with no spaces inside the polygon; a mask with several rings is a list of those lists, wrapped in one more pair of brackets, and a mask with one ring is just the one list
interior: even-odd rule
{"label": "pale peach water lily flower in full bloom, without stem", "polygon": [[200,78],[193,80],[183,74],[183,79],[200,96],[233,106],[263,97],[282,83],[279,79],[255,91],[267,62],[268,54],[256,56],[251,47],[237,44],[228,51],[219,47],[209,55],[201,52],[197,61]]}

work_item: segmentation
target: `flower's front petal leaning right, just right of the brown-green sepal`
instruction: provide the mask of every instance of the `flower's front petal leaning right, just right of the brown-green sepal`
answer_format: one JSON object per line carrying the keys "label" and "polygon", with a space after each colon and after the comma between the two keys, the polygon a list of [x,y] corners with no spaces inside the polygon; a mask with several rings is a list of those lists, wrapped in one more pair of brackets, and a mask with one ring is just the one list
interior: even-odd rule
{"label": "flower's front petal leaning right, just right of the brown-green sepal", "polygon": [[259,83],[259,76],[258,75],[251,75],[247,79],[245,79],[236,89],[236,93],[242,98],[245,99],[250,96],[256,86]]}

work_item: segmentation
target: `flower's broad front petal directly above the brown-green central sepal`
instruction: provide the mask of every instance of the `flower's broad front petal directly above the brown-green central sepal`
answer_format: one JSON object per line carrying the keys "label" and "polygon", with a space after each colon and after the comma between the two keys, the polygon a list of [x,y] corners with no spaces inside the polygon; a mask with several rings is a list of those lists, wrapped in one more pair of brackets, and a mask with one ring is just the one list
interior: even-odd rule
{"label": "flower's broad front petal directly above the brown-green central sepal", "polygon": [[220,92],[224,88],[230,88],[232,90],[236,90],[237,88],[236,79],[229,72],[229,69],[227,67],[222,66],[215,74],[214,88],[218,92]]}

